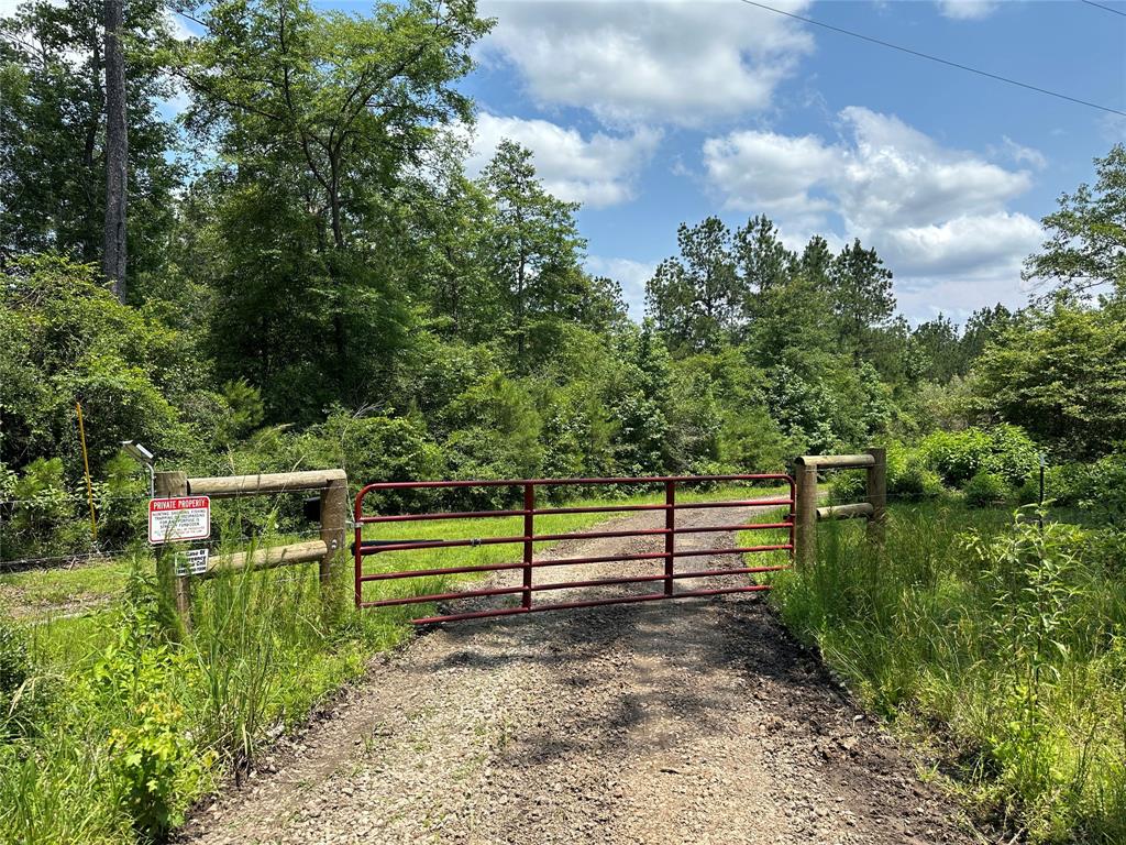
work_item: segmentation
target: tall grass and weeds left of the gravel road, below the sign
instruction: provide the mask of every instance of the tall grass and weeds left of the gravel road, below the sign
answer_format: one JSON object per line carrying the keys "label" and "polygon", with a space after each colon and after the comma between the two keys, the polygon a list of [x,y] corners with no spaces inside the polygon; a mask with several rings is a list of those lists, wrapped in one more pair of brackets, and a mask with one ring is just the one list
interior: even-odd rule
{"label": "tall grass and weeds left of the gravel road, below the sign", "polygon": [[175,641],[150,571],[135,560],[97,617],[0,625],[19,670],[0,690],[0,842],[160,840],[406,635],[403,614],[327,610],[315,567],[291,567],[202,584]]}

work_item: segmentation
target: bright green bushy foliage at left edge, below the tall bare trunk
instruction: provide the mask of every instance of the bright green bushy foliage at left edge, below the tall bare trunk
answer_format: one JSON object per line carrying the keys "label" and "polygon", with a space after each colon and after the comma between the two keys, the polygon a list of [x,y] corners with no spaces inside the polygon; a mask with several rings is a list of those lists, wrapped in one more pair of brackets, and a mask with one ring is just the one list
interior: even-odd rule
{"label": "bright green bushy foliage at left edge, below the tall bare trunk", "polygon": [[0,301],[0,406],[5,452],[21,461],[81,453],[74,402],[87,421],[91,470],[137,438],[166,455],[195,444],[176,403],[199,385],[182,338],[143,311],[119,304],[93,270],[62,258],[21,258]]}

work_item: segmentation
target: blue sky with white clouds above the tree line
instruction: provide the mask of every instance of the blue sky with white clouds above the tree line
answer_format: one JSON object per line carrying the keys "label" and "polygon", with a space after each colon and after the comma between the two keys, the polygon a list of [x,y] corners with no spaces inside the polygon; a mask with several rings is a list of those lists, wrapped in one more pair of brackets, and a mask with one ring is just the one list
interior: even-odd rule
{"label": "blue sky with white clouds above the tree line", "polygon": [[[1076,0],[771,5],[1126,110],[1126,17]],[[766,213],[795,247],[860,237],[912,321],[1020,305],[1038,220],[1126,140],[1126,118],[739,0],[482,7],[499,23],[465,83],[471,166],[504,136],[531,148],[635,315],[677,224],[712,213]]]}

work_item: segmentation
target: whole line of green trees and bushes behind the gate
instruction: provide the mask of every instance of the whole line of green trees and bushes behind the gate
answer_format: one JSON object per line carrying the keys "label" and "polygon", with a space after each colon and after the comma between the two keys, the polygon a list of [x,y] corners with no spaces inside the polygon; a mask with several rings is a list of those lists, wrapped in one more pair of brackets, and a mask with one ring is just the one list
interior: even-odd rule
{"label": "whole line of green trees and bushes behind the gate", "polygon": [[107,490],[128,437],[359,479],[766,471],[1000,421],[1126,439],[1121,146],[1045,219],[1028,308],[911,326],[870,246],[795,251],[760,214],[682,224],[636,323],[529,150],[466,171],[473,2],[110,6],[0,19],[0,498],[78,489],[74,401]]}

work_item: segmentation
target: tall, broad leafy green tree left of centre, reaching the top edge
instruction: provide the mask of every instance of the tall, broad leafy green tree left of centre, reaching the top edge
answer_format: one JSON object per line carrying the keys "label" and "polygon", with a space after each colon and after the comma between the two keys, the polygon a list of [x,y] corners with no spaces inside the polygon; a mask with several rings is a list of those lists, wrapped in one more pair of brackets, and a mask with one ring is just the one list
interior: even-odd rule
{"label": "tall, broad leafy green tree left of centre, reaching the top edge", "polygon": [[229,0],[199,17],[207,34],[175,70],[188,125],[222,153],[221,374],[260,385],[272,419],[364,404],[408,345],[412,203],[435,190],[443,126],[472,119],[456,83],[490,24],[473,2],[427,0],[368,17]]}

